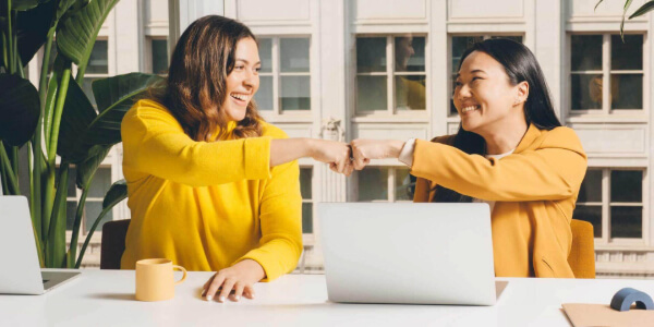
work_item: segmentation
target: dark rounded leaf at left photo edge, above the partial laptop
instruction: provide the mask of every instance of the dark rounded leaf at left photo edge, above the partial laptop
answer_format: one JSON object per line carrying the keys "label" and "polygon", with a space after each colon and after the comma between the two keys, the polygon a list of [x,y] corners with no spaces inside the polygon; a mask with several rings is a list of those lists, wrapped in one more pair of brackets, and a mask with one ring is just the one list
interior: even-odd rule
{"label": "dark rounded leaf at left photo edge, above the partial laptop", "polygon": [[38,92],[29,81],[0,74],[0,140],[23,145],[32,138],[39,112]]}

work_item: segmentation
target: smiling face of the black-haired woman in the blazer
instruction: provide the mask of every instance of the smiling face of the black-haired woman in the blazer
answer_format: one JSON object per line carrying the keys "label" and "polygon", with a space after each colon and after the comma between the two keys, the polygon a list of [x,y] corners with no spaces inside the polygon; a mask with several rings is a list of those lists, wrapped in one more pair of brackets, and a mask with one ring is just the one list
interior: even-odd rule
{"label": "smiling face of the black-haired woman in the blazer", "polygon": [[485,52],[473,51],[461,64],[455,88],[455,107],[463,130],[484,136],[524,120],[526,82],[511,85],[505,68]]}

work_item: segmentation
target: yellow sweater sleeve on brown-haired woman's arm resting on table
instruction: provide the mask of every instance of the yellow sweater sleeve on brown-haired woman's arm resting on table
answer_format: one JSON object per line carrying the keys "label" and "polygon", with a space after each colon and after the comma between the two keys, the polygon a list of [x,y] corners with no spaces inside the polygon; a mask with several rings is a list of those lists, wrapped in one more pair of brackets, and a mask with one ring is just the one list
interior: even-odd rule
{"label": "yellow sweater sleeve on brown-haired woman's arm resting on table", "polygon": [[272,179],[264,189],[259,209],[259,247],[238,262],[256,261],[266,271],[264,281],[270,281],[292,271],[303,250],[302,196],[296,160],[272,168]]}

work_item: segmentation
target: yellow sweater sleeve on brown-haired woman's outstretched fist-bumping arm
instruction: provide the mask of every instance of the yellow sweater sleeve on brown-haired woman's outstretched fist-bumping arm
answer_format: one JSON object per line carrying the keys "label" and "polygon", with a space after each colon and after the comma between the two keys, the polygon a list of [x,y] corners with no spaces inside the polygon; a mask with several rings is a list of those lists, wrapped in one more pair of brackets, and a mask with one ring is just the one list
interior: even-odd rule
{"label": "yellow sweater sleeve on brown-haired woman's outstretched fist-bumping arm", "polygon": [[131,110],[121,124],[123,166],[191,186],[270,177],[270,137],[196,142],[162,110]]}

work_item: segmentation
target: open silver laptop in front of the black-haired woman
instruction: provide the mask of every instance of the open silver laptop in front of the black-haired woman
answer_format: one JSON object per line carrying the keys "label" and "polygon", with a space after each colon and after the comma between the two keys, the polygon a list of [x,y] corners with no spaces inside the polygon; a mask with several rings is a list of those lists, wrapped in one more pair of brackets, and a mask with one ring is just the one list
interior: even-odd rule
{"label": "open silver laptop in front of the black-haired woman", "polygon": [[319,203],[332,302],[493,305],[485,203]]}

